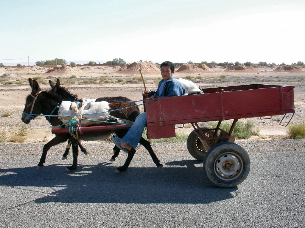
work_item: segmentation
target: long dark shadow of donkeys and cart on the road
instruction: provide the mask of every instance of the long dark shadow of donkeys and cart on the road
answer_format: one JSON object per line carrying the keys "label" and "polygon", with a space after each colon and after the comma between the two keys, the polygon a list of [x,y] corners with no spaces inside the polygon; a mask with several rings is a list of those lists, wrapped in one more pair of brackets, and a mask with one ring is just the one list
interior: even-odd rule
{"label": "long dark shadow of donkeys and cart on the road", "polygon": [[114,166],[108,162],[80,164],[72,173],[63,172],[66,164],[48,165],[40,170],[35,167],[8,168],[0,170],[0,185],[27,187],[29,194],[37,191],[37,187],[51,188],[52,193],[35,199],[36,203],[206,204],[237,195],[237,187],[212,185],[200,163],[196,160],[172,161],[165,163],[162,171],[130,167],[120,174],[114,173]]}

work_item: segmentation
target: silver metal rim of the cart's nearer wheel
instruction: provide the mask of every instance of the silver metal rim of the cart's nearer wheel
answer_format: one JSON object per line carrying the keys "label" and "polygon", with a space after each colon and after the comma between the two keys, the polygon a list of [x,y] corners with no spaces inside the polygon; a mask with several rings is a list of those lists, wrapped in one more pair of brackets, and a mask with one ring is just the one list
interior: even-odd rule
{"label": "silver metal rim of the cart's nearer wheel", "polygon": [[242,173],[243,161],[236,153],[221,154],[214,164],[214,172],[222,180],[234,180]]}

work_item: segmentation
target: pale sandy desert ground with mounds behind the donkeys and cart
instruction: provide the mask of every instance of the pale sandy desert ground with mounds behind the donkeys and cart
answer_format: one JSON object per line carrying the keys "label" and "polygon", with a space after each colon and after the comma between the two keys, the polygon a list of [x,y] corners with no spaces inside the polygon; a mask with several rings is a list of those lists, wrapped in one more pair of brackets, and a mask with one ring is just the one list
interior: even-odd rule
{"label": "pale sandy desert ground with mounds behind the donkeys and cart", "polygon": [[[0,114],[12,112],[9,117],[0,117],[1,131],[9,132],[16,126],[24,125],[21,121],[22,111],[25,105],[25,98],[30,94],[30,86],[27,78],[41,77],[45,79],[40,83],[42,90],[50,89],[48,80],[56,82],[57,78],[90,79],[97,78],[94,83],[62,83],[61,85],[68,88],[72,93],[77,94],[80,98],[99,98],[103,96],[125,96],[131,100],[142,100],[142,91],[144,85],[142,82],[126,82],[134,77],[141,77],[138,68],[141,67],[145,78],[147,89],[155,90],[157,83],[161,79],[158,68],[153,68],[152,64],[135,63],[127,66],[56,66],[56,67],[2,67],[0,68],[0,79],[9,81],[20,81],[16,84],[0,84],[0,93],[2,102],[0,105]],[[213,67],[213,66],[212,66]],[[295,114],[290,124],[305,122],[305,70],[298,69],[278,69],[277,66],[259,67],[248,69],[226,70],[224,68],[196,68],[188,66],[181,70],[181,67],[175,69],[175,78],[193,78],[193,82],[204,88],[221,87],[229,85],[246,85],[246,84],[268,84],[268,85],[292,85],[294,88]],[[179,71],[180,70],[180,71]],[[99,80],[106,78],[105,80]],[[117,81],[118,79],[119,82]],[[137,102],[138,104],[140,102]],[[139,106],[143,111],[143,107]],[[287,138],[287,127],[279,125],[282,116],[273,116],[271,119],[249,118],[254,123],[255,129],[258,130],[257,136],[252,136],[248,140],[270,140]],[[246,121],[241,119],[240,121]],[[53,138],[51,126],[43,117],[37,117],[27,125],[26,142],[48,142]],[[193,130],[184,128],[181,131],[186,133]]]}

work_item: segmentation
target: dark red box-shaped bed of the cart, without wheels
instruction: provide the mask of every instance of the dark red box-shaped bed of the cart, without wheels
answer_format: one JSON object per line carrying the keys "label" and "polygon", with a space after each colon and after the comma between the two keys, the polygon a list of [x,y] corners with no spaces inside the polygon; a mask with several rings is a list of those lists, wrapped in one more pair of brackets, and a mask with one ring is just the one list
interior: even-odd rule
{"label": "dark red box-shaped bed of the cart, without wheels", "polygon": [[198,95],[147,98],[148,138],[175,137],[175,124],[294,113],[293,88],[251,84],[206,88]]}

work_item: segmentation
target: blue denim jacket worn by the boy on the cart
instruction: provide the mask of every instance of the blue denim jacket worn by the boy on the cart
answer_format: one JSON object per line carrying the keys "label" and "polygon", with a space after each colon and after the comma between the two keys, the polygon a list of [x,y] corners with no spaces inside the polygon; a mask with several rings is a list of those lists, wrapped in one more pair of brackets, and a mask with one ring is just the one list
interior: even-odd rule
{"label": "blue denim jacket worn by the boy on the cart", "polygon": [[179,83],[179,81],[177,81],[176,78],[174,78],[173,76],[171,76],[169,79],[167,79],[164,88],[163,88],[163,95],[164,96],[159,96],[159,87],[161,85],[161,82],[163,82],[164,80],[162,79],[159,82],[157,91],[152,91],[151,95],[154,95],[155,97],[172,97],[172,96],[181,96],[181,95],[185,95],[185,91],[183,86]]}

